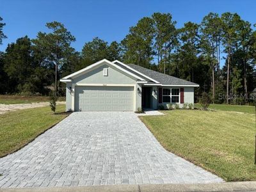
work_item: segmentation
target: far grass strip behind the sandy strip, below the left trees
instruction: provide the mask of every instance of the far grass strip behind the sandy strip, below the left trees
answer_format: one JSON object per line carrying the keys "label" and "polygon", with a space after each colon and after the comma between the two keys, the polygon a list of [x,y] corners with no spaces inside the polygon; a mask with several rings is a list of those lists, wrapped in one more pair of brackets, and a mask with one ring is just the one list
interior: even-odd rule
{"label": "far grass strip behind the sandy strip, below the left trees", "polygon": [[[59,97],[60,101],[65,100],[65,97]],[[41,96],[19,96],[19,95],[0,95],[0,104],[26,104],[32,102],[49,102],[49,97]]]}

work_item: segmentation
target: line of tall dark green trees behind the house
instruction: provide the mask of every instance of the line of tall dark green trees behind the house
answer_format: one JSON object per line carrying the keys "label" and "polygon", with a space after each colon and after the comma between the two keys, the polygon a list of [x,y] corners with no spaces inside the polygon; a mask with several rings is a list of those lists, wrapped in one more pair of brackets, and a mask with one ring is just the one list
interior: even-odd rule
{"label": "line of tall dark green trees behind the house", "polygon": [[[196,99],[207,92],[212,102],[246,102],[256,85],[252,24],[229,12],[209,13],[199,24],[186,22],[182,28],[176,24],[170,13],[154,13],[129,28],[121,42],[109,44],[96,37],[77,52],[70,31],[60,22],[49,22],[49,33],[18,38],[0,53],[0,93],[47,95],[54,87],[63,95],[60,77],[106,58],[198,83]],[[4,25],[0,17],[0,44],[6,38]]]}

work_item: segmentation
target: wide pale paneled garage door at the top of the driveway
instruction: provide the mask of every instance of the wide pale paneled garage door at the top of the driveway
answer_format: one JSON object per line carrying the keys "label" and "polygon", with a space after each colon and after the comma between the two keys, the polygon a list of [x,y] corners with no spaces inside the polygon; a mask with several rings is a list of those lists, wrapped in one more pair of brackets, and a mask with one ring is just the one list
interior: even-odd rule
{"label": "wide pale paneled garage door at the top of the driveway", "polygon": [[133,111],[133,87],[76,86],[76,111]]}

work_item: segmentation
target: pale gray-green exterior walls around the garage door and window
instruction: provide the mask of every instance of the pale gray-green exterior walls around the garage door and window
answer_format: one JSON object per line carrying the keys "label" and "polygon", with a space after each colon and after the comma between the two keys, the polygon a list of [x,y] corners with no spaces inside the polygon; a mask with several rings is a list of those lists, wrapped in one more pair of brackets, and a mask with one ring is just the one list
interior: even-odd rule
{"label": "pale gray-green exterior walls around the garage door and window", "polygon": [[[103,76],[103,69],[108,68],[108,76]],[[141,108],[141,84],[138,84],[135,79],[127,76],[124,72],[119,71],[115,67],[103,63],[98,68],[87,72],[78,77],[74,77],[72,82],[67,82],[66,84],[66,111],[74,111],[74,106],[77,102],[75,98],[76,90],[78,90],[77,84],[134,84],[134,111],[137,111],[138,108]],[[122,86],[122,85],[120,85]],[[68,89],[72,88],[72,92]],[[180,88],[180,87],[162,87],[162,88]],[[140,90],[140,91],[138,91]],[[154,92],[156,90],[156,92]],[[166,106],[166,103],[159,104],[159,86],[152,86],[152,109],[157,109],[159,105]],[[160,99],[161,100],[161,99]],[[194,87],[184,87],[184,103],[194,103]],[[183,104],[179,104],[180,108]]]}

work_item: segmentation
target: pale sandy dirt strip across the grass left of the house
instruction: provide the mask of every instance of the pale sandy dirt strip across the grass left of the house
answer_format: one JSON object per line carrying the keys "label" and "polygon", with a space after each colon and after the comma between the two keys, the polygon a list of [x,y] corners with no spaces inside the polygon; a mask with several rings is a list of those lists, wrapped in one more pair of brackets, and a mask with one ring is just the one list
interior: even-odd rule
{"label": "pale sandy dirt strip across the grass left of the house", "polygon": [[[65,104],[65,101],[57,101],[57,104]],[[0,114],[10,111],[16,111],[19,109],[31,109],[49,106],[49,102],[33,102],[26,104],[0,104]]]}

